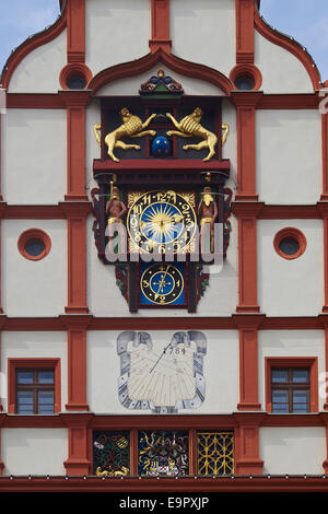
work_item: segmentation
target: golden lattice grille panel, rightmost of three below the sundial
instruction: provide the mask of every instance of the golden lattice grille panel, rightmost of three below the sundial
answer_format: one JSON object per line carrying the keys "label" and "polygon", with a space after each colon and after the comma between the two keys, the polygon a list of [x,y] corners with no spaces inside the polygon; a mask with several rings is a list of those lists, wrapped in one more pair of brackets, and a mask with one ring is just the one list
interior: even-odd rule
{"label": "golden lattice grille panel, rightmost of three below the sundial", "polygon": [[224,476],[234,472],[234,433],[197,433],[198,475]]}

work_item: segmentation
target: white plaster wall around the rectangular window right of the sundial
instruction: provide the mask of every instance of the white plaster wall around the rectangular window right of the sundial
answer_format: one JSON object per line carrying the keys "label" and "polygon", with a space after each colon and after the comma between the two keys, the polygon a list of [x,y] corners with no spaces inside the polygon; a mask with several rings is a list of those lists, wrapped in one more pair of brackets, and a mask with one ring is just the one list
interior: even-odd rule
{"label": "white plaster wall around the rectangular window right of the sundial", "polygon": [[[259,330],[258,332],[258,384],[259,402],[266,409],[266,357],[316,357],[318,359],[318,382],[325,373],[324,330]],[[319,410],[324,410],[326,398],[320,397]]]}

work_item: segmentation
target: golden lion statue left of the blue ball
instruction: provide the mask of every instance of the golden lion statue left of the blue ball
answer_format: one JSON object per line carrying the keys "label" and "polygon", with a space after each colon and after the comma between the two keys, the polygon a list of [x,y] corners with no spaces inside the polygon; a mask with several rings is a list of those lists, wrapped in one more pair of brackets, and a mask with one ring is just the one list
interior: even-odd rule
{"label": "golden lion statue left of the blue ball", "polygon": [[[134,150],[140,150],[139,144],[127,144],[120,141],[121,138],[141,138],[142,136],[155,136],[156,133],[155,130],[144,130],[156,116],[155,114],[152,114],[144,122],[142,122],[138,116],[132,115],[127,107],[124,107],[119,114],[124,121],[122,125],[105,137],[105,143],[108,147],[108,155],[115,162],[119,162],[119,159],[114,155],[115,148],[121,148],[122,150],[133,148]],[[101,144],[101,136],[98,133],[101,128],[102,126],[98,124],[94,126],[94,133],[98,144]]]}

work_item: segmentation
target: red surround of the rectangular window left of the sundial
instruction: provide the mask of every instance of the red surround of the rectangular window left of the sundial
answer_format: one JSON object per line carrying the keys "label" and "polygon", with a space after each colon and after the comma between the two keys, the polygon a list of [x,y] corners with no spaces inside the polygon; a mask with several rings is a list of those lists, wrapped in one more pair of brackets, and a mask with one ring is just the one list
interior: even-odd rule
{"label": "red surround of the rectangular window left of the sundial", "polygon": [[8,359],[8,413],[16,412],[16,370],[17,369],[55,370],[55,413],[61,411],[61,371],[60,359],[19,358]]}

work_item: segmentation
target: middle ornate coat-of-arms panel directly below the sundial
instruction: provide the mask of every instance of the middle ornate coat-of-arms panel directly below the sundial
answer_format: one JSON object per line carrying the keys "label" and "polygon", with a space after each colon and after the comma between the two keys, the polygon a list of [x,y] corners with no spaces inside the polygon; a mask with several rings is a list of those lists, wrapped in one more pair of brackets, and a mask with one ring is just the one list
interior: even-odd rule
{"label": "middle ornate coat-of-arms panel directly below the sundial", "polygon": [[139,432],[138,472],[148,477],[189,475],[188,433],[164,430]]}

